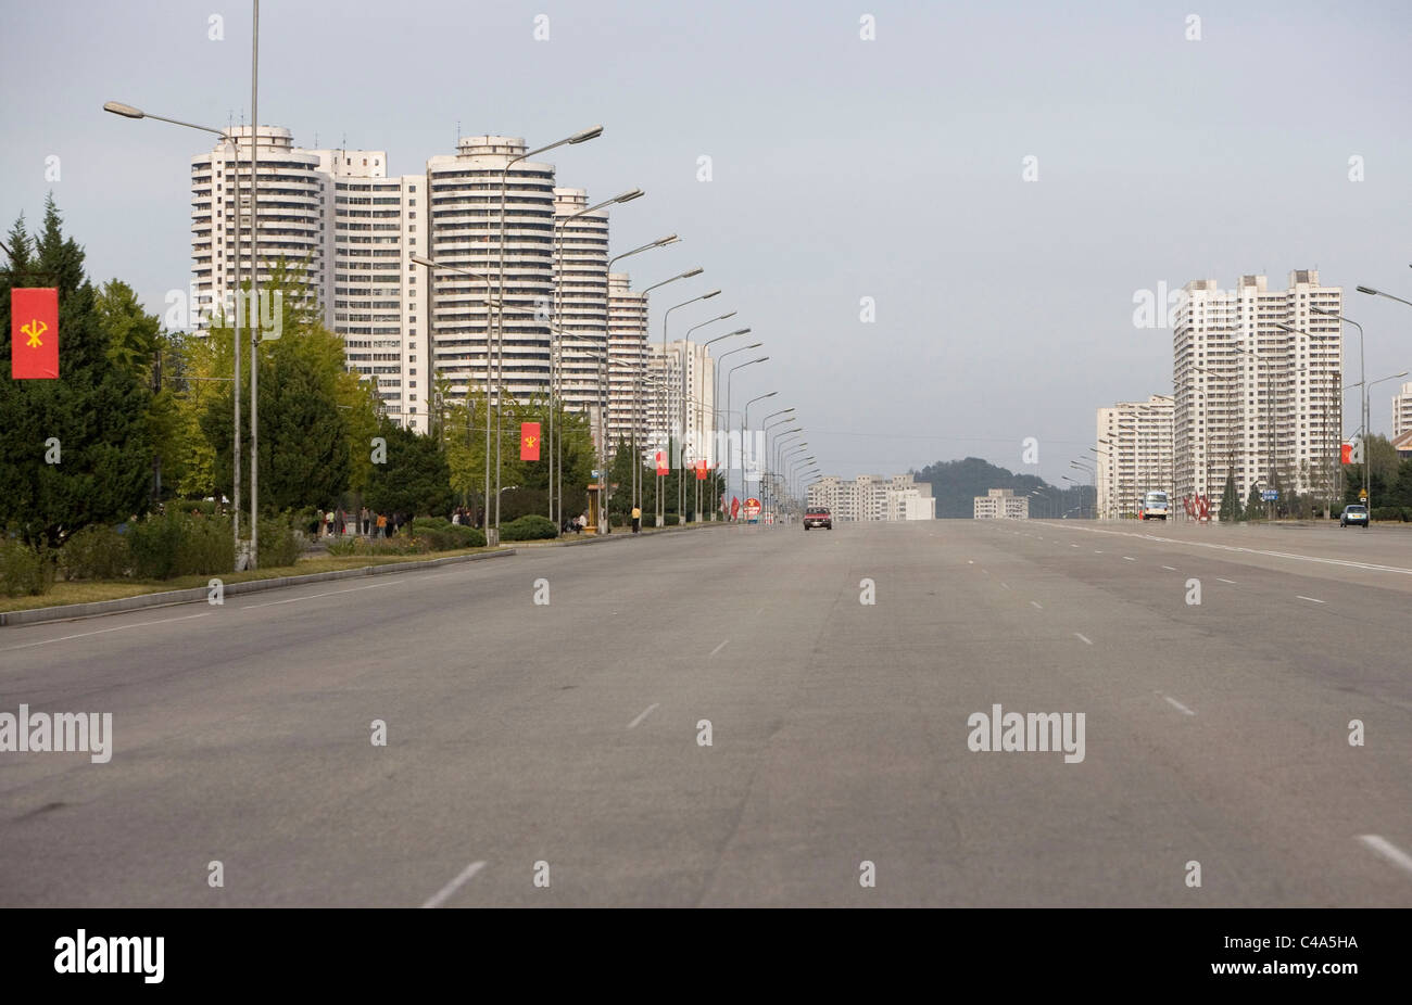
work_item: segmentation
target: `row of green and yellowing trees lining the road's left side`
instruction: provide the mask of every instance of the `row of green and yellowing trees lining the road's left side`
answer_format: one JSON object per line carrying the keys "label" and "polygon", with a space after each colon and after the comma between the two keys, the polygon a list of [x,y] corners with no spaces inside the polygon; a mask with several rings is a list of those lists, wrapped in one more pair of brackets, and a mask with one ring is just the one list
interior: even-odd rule
{"label": "row of green and yellowing trees lining the road's left side", "polygon": [[[83,250],[64,236],[52,198],[40,233],[31,236],[21,216],[6,244],[0,359],[10,359],[10,289],[58,287],[61,378],[0,381],[0,526],[28,543],[55,548],[83,526],[112,525],[178,500],[232,498],[237,459],[232,457],[230,319],[217,316],[202,337],[164,330],[127,284],[93,287]],[[450,383],[438,375],[429,435],[401,428],[384,414],[376,387],[347,370],[342,337],[305,305],[301,270],[281,261],[271,272],[261,287],[280,294],[273,301],[281,336],[258,349],[261,512],[366,505],[409,518],[463,507],[479,518],[487,463],[494,483],[497,453],[491,429],[486,456],[484,391],[453,399]],[[249,354],[241,357],[239,463],[249,491]],[[594,449],[585,416],[556,407],[552,421],[568,518],[587,505]],[[541,460],[521,462],[521,422],[539,422],[546,432],[548,401],[507,398],[501,405],[503,522],[549,512],[551,452],[546,443]],[[610,502],[620,515],[631,507],[628,455],[620,445],[609,479],[621,486]],[[655,473],[645,467],[642,484],[650,510]],[[707,484],[714,498],[719,483]],[[688,484],[688,493],[695,498],[695,486]],[[675,474],[668,498],[675,511]]]}

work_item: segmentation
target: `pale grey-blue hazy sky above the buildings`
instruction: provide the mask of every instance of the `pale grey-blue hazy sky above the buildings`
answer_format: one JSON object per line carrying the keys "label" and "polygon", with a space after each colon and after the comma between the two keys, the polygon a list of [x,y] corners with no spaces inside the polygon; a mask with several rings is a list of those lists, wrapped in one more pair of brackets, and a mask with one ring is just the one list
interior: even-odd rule
{"label": "pale grey-blue hazy sky above the buildings", "polygon": [[[4,24],[0,223],[37,222],[52,189],[92,275],[160,309],[188,282],[189,158],[210,144],[102,104],[240,121],[249,0],[4,0]],[[614,253],[682,236],[624,263],[635,284],[706,270],[654,294],[652,337],[665,306],[723,288],[672,335],[738,311],[771,361],[737,374],[736,401],[778,390],[827,473],[966,455],[1019,470],[1036,436],[1056,481],[1094,408],[1171,392],[1171,332],[1132,326],[1134,292],[1159,282],[1284,288],[1319,268],[1367,326],[1368,378],[1412,368],[1412,308],[1353,292],[1412,299],[1405,0],[267,0],[260,28],[261,120],[304,147],[387,150],[397,174],[453,152],[457,123],[531,145],[603,123],[555,151],[559,183],[647,191],[614,215]],[[1375,429],[1395,388],[1374,390]]]}

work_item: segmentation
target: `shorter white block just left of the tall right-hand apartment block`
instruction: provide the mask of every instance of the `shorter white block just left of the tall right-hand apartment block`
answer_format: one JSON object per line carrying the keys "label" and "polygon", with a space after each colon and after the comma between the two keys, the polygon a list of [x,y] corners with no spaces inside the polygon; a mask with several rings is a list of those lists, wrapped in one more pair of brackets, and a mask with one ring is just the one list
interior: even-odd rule
{"label": "shorter white block just left of the tall right-hand apartment block", "polygon": [[1175,407],[1171,395],[1154,394],[1147,401],[1120,401],[1099,409],[1099,519],[1135,517],[1149,491],[1172,495]]}

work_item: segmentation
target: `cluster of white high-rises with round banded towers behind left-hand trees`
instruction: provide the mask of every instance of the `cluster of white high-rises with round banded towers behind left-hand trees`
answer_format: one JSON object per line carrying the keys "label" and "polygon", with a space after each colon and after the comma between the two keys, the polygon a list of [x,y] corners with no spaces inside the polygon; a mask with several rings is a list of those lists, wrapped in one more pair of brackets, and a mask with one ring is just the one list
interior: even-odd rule
{"label": "cluster of white high-rises with round banded towers behind left-hand trees", "polygon": [[[192,158],[196,305],[236,285],[234,168],[246,164],[249,188],[256,133],[246,126],[232,134],[233,143]],[[627,275],[607,275],[607,210],[583,212],[583,189],[556,188],[554,167],[535,161],[515,161],[501,188],[524,140],[463,137],[455,155],[432,157],[424,174],[388,176],[385,151],[299,150],[289,130],[273,126],[261,126],[258,138],[258,248],[250,193],[241,192],[241,278],[249,281],[258,261],[268,281],[281,255],[304,268],[309,306],[345,337],[347,367],[376,383],[390,416],[425,432],[438,373],[449,378],[452,398],[484,394],[498,373],[520,401],[546,395],[554,373],[555,392],[589,416],[596,442],[604,422],[610,443],[631,436],[645,299],[628,289]],[[491,360],[501,200],[507,308],[501,359]],[[460,271],[428,270],[412,255]],[[562,336],[551,336],[551,325]],[[703,397],[689,390],[700,368],[688,359],[676,374],[689,397]],[[638,414],[645,440],[651,409]]]}

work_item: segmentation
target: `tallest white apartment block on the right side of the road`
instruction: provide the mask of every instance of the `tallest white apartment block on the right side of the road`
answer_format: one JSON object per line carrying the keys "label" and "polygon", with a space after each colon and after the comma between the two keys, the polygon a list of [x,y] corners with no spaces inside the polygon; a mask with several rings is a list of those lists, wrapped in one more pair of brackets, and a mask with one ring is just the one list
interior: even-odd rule
{"label": "tallest white apartment block on the right side of the road", "polygon": [[[1210,494],[1227,471],[1241,501],[1251,487],[1329,494],[1343,440],[1343,291],[1315,270],[1269,291],[1264,275],[1236,289],[1183,287],[1172,336],[1175,497]],[[1288,326],[1288,327],[1282,327]],[[1292,330],[1291,330],[1292,329]]]}

